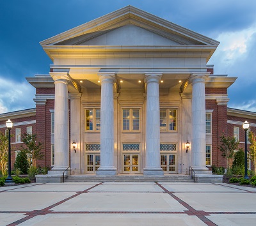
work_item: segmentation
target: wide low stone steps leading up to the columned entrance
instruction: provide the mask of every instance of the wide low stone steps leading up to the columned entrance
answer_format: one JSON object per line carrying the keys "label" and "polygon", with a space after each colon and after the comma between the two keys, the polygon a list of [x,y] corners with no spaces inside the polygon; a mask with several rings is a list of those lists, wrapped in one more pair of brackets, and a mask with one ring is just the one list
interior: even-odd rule
{"label": "wide low stone steps leading up to the columned entrance", "polygon": [[95,174],[69,175],[65,182],[180,182],[193,183],[191,176],[184,174],[167,174],[164,176],[145,176],[138,174],[118,174],[115,176],[102,176]]}

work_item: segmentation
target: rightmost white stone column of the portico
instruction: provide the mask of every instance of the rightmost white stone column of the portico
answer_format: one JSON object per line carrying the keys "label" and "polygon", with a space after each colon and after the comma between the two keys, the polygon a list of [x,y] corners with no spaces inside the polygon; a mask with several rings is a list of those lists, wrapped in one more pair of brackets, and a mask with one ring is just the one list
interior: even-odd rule
{"label": "rightmost white stone column of the portico", "polygon": [[[200,174],[207,174],[205,166],[205,73],[193,73],[192,82],[192,140],[191,167]],[[207,172],[208,171],[208,172]]]}

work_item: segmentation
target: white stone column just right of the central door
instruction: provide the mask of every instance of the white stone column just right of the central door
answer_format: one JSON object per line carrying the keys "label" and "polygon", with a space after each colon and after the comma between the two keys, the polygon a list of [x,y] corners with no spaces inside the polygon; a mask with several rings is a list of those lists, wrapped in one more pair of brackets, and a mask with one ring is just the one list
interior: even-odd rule
{"label": "white stone column just right of the central door", "polygon": [[146,166],[145,175],[163,175],[160,163],[160,109],[159,82],[161,73],[146,73],[147,121],[146,121]]}

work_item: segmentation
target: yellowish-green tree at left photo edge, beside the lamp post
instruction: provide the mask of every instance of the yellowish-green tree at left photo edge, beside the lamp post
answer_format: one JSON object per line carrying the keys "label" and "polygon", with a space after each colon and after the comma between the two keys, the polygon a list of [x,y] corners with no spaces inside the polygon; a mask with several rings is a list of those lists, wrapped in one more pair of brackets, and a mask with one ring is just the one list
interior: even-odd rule
{"label": "yellowish-green tree at left photo edge, beside the lamp post", "polygon": [[8,162],[8,136],[0,132],[0,171],[2,175],[6,174]]}

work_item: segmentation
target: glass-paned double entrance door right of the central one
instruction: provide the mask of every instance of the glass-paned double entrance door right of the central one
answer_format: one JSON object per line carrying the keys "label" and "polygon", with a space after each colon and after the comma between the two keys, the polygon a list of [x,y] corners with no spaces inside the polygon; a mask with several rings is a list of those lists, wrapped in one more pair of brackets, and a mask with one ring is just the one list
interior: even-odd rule
{"label": "glass-paned double entrance door right of the central one", "polygon": [[165,174],[176,174],[177,154],[161,154],[161,167]]}

